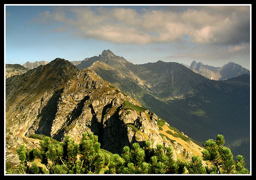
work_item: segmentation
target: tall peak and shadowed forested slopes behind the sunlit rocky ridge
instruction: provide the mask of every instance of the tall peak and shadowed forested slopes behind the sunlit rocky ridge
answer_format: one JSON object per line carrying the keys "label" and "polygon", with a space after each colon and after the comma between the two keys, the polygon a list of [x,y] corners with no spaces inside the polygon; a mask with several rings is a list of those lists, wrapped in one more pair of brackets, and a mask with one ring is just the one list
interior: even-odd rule
{"label": "tall peak and shadowed forested slopes behind the sunlit rocky ridge", "polygon": [[[215,81],[176,62],[134,65],[110,50],[82,61],[77,68],[93,69],[197,141],[223,134],[233,152],[246,152],[249,159],[250,145],[245,140],[250,137],[249,74]],[[235,146],[234,142],[243,143]]]}

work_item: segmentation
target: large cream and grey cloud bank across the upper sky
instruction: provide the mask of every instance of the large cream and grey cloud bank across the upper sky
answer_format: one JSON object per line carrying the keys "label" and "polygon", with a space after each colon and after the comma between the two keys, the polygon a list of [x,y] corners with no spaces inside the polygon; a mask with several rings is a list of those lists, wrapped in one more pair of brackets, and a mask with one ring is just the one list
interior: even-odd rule
{"label": "large cream and grey cloud bank across the upper sky", "polygon": [[79,38],[113,43],[182,42],[184,35],[195,44],[234,46],[250,42],[250,6],[56,6],[34,20],[58,23],[55,31],[69,30]]}

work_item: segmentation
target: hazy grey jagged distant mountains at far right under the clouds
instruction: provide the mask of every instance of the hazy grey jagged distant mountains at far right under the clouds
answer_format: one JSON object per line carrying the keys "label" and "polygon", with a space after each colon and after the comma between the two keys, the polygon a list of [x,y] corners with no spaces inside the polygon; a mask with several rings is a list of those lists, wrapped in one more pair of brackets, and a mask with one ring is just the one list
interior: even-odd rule
{"label": "hazy grey jagged distant mountains at far right under the clouds", "polygon": [[197,63],[196,61],[192,61],[189,68],[194,72],[213,80],[226,80],[243,74],[250,74],[248,69],[243,68],[241,65],[234,62],[229,62],[222,67],[213,67],[204,65],[202,62]]}

